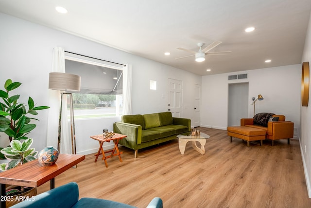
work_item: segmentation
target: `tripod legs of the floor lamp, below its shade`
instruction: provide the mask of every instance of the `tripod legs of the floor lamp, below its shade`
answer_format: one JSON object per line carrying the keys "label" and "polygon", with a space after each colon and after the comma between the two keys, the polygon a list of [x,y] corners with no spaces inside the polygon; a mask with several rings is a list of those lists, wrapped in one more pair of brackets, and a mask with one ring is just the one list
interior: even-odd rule
{"label": "tripod legs of the floor lamp, below its shade", "polygon": [[58,142],[57,150],[60,152],[61,144],[61,127],[62,127],[62,106],[63,106],[63,95],[69,95],[69,105],[70,105],[70,135],[71,135],[71,151],[72,154],[76,154],[76,136],[74,131],[74,115],[73,115],[73,102],[71,93],[61,93],[60,98],[60,110],[59,110],[59,120],[58,120]]}

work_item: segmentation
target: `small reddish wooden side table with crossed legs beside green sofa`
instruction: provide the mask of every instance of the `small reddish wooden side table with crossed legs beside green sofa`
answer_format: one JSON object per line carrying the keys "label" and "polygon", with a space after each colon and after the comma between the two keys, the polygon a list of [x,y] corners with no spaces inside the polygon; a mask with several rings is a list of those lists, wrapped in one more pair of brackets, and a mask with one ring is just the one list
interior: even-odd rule
{"label": "small reddish wooden side table with crossed legs beside green sofa", "polygon": [[[106,168],[108,168],[108,164],[107,164],[107,161],[106,161],[107,158],[110,158],[110,157],[118,155],[120,162],[122,162],[121,154],[123,152],[119,151],[118,144],[119,144],[120,139],[123,139],[125,137],[126,137],[126,135],[123,135],[123,134],[120,134],[120,133],[114,133],[111,137],[107,137],[107,138],[105,138],[102,134],[90,136],[90,138],[95,139],[95,140],[97,140],[99,142],[98,152],[97,152],[97,154],[94,155],[94,156],[96,156],[95,162],[97,162],[98,156],[101,153],[103,155],[102,160],[105,161]],[[110,141],[113,141],[114,148],[112,150],[104,151],[104,149],[103,149],[104,142],[110,142]],[[115,153],[115,151],[117,151],[117,153]],[[108,156],[105,156],[105,153],[108,153],[108,152],[111,152],[111,154],[108,155]]]}

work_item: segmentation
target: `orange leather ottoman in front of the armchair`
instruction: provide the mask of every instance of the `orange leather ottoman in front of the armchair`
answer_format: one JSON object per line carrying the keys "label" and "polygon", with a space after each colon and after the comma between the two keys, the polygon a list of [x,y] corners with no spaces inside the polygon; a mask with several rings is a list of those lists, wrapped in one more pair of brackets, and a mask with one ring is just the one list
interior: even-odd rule
{"label": "orange leather ottoman in front of the armchair", "polygon": [[230,136],[230,142],[232,142],[232,136],[243,139],[246,141],[246,146],[249,147],[250,141],[259,141],[260,140],[260,146],[262,146],[262,140],[266,139],[266,131],[252,128],[252,127],[246,127],[246,126],[235,126],[235,127],[228,127],[228,136]]}

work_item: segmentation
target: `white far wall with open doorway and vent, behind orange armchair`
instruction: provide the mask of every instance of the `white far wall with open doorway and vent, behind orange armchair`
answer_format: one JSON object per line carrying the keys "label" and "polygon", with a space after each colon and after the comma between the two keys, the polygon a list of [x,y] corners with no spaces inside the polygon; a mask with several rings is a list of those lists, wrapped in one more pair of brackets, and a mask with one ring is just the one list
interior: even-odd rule
{"label": "white far wall with open doorway and vent, behind orange armchair", "polygon": [[[229,75],[248,74],[247,79],[228,80]],[[256,102],[255,113],[284,114],[286,120],[300,128],[300,65],[290,65],[236,73],[202,76],[201,126],[226,130],[228,124],[228,84],[248,82],[248,117],[253,117],[252,97],[263,96]]]}

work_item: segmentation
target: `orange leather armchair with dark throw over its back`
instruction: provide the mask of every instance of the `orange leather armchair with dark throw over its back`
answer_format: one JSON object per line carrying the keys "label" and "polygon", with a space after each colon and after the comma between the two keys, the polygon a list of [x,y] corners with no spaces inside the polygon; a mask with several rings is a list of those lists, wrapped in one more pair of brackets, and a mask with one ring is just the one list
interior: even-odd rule
{"label": "orange leather armchair with dark throw over its back", "polygon": [[253,127],[263,129],[266,131],[266,139],[274,140],[287,139],[287,143],[290,144],[290,138],[294,137],[294,123],[291,121],[285,121],[285,115],[272,115],[272,117],[278,117],[278,121],[269,121],[268,126],[254,125],[253,118],[241,118],[241,126]]}

